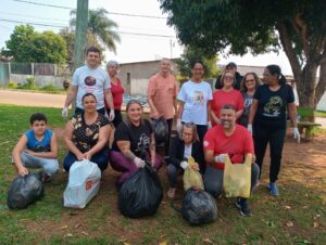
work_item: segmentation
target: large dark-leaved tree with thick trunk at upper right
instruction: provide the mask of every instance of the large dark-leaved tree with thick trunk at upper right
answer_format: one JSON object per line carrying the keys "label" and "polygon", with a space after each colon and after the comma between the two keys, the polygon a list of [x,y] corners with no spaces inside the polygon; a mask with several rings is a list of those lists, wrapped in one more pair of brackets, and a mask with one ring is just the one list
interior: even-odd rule
{"label": "large dark-leaved tree with thick trunk at upper right", "polygon": [[[300,103],[315,108],[326,88],[324,0],[159,0],[184,44],[215,54],[278,51],[289,59]],[[317,68],[319,79],[316,80]]]}

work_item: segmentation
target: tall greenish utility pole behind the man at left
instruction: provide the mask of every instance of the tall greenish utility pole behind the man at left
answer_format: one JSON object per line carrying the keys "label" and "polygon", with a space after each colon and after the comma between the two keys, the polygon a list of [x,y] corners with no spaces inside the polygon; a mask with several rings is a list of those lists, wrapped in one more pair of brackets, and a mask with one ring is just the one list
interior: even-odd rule
{"label": "tall greenish utility pole behind the man at left", "polygon": [[[75,49],[74,49],[74,70],[84,65],[85,48],[88,23],[88,0],[77,0]],[[73,103],[73,112],[76,107],[76,99]]]}

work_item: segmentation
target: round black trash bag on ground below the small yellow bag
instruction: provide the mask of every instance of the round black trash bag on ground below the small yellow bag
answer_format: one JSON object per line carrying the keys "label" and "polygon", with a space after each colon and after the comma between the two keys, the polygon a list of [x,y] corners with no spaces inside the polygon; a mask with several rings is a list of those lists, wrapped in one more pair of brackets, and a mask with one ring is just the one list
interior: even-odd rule
{"label": "round black trash bag on ground below the small yellow bag", "polygon": [[215,198],[202,190],[189,189],[183,201],[181,215],[190,224],[204,224],[217,218]]}

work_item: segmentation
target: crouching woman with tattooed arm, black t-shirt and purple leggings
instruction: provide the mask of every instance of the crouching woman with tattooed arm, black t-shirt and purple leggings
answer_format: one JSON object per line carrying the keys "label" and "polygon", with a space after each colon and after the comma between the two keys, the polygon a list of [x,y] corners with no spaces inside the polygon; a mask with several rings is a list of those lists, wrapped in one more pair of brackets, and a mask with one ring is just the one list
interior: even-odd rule
{"label": "crouching woman with tattooed arm, black t-shirt and purple leggings", "polygon": [[126,120],[122,121],[114,133],[110,163],[114,170],[122,172],[116,184],[121,186],[138,168],[150,162],[156,170],[162,159],[155,152],[154,133],[150,122],[142,118],[142,106],[131,100],[126,106]]}

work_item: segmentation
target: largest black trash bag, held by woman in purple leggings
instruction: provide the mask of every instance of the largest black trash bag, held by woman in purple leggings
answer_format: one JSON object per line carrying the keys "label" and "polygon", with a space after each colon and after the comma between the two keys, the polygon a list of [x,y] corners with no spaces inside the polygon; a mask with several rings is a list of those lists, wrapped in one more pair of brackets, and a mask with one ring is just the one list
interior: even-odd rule
{"label": "largest black trash bag, held by woman in purple leggings", "polygon": [[126,180],[118,192],[118,208],[124,216],[141,218],[154,215],[163,198],[159,176],[149,164]]}

